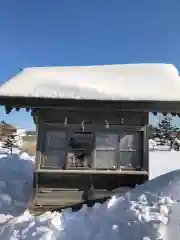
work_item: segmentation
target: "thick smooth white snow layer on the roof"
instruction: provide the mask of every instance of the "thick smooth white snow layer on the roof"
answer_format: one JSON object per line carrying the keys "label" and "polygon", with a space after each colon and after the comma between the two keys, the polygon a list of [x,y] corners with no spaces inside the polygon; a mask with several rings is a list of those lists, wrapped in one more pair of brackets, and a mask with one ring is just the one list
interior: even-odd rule
{"label": "thick smooth white snow layer on the roof", "polygon": [[180,101],[180,78],[171,64],[32,67],[4,83],[0,96]]}

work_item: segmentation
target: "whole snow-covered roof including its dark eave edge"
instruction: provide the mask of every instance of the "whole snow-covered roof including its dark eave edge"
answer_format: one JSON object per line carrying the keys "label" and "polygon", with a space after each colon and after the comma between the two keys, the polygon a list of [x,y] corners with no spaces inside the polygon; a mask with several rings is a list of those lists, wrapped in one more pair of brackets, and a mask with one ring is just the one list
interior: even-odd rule
{"label": "whole snow-covered roof including its dark eave edge", "polygon": [[26,68],[0,87],[9,107],[112,107],[180,112],[180,77],[171,64]]}

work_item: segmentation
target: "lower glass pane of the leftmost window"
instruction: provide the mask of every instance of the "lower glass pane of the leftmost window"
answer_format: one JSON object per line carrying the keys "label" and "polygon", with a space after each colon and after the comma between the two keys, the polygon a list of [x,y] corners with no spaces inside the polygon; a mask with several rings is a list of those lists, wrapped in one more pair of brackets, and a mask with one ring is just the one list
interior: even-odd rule
{"label": "lower glass pane of the leftmost window", "polygon": [[65,151],[53,150],[44,154],[43,165],[45,167],[65,167]]}

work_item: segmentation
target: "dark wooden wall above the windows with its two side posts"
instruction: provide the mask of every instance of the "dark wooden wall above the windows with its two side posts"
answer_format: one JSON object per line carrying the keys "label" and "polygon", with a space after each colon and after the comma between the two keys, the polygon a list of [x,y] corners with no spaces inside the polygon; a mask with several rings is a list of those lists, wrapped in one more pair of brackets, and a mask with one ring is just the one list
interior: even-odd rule
{"label": "dark wooden wall above the windows with its two side posts", "polygon": [[[143,127],[144,134],[143,134],[143,169],[148,171],[149,164],[149,152],[148,152],[148,132],[147,132],[147,125],[148,125],[148,113],[142,112],[128,112],[128,111],[103,111],[103,110],[65,110],[65,109],[40,109],[37,112],[32,113],[33,116],[36,118],[37,122],[37,132],[38,134],[38,141],[37,141],[37,152],[36,152],[36,167],[40,168],[40,158],[42,155],[41,145],[44,141],[44,131],[46,127],[44,123],[57,123],[59,125],[64,124],[64,120],[67,117],[67,121],[69,124],[77,124],[80,126],[81,122],[84,120],[91,124],[98,124],[98,126],[102,126],[105,124],[105,120],[108,121],[109,125],[121,125],[127,129],[131,128],[131,126],[136,127]],[[123,120],[122,120],[123,119]],[[42,127],[41,127],[42,124]],[[46,124],[45,124],[46,125]]]}

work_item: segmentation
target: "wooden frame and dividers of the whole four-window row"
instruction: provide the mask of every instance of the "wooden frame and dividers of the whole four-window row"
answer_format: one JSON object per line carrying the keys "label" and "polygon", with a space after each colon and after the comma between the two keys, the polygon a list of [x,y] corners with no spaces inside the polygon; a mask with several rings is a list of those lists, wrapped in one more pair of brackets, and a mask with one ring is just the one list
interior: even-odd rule
{"label": "wooden frame and dividers of the whole four-window row", "polygon": [[[68,147],[68,139],[71,136],[70,133],[76,132],[76,131],[82,131],[80,124],[71,124],[71,125],[63,125],[63,124],[54,124],[54,123],[45,123],[43,124],[42,127],[42,138],[45,139],[46,138],[46,134],[48,131],[52,132],[54,131],[63,131],[66,132],[67,134],[67,144],[65,148],[52,148],[52,150],[61,150],[64,149],[65,150],[65,168],[62,168],[63,170],[115,170],[118,171],[119,166],[120,166],[120,161],[119,161],[119,154],[116,154],[116,165],[117,167],[114,168],[95,168],[95,161],[96,161],[96,145],[95,145],[95,137],[97,135],[97,133],[106,133],[106,134],[110,134],[110,133],[115,133],[118,136],[121,134],[121,132],[125,132],[125,133],[133,133],[133,132],[142,132],[142,149],[139,150],[139,152],[141,152],[141,169],[143,169],[143,161],[144,161],[144,148],[145,148],[145,126],[126,126],[126,125],[111,125],[109,128],[105,128],[105,126],[103,124],[101,125],[93,125],[93,124],[86,124],[85,125],[85,131],[89,131],[92,132],[92,138],[93,138],[93,150],[91,153],[91,167],[85,168],[85,167],[68,167],[68,152],[69,152],[69,147]],[[40,169],[54,169],[54,170],[59,170],[60,167],[55,167],[55,166],[45,166],[44,163],[44,157],[45,157],[45,145],[46,145],[46,141],[42,141],[41,142],[41,157],[40,157]],[[99,151],[99,150],[98,150]],[[102,149],[100,151],[119,151],[119,148],[116,148],[115,150],[112,149]],[[138,150],[132,150],[132,151],[136,151],[138,152]],[[132,152],[130,150],[123,150],[121,152]],[[119,151],[120,152],[120,151]],[[132,168],[126,168],[125,170],[132,170]]]}

